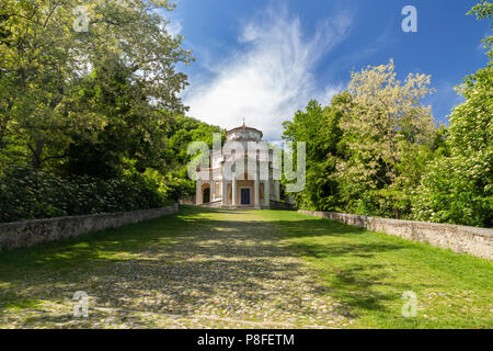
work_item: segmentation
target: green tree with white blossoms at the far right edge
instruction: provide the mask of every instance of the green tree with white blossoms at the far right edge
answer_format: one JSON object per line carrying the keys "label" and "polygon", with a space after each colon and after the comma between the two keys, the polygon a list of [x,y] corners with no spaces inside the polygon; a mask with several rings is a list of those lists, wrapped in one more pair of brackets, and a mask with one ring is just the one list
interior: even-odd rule
{"label": "green tree with white blossoms at the far right edge", "polygon": [[[471,12],[491,18],[492,3],[482,1]],[[486,47],[492,46],[492,37]],[[491,59],[492,50],[489,56]],[[467,99],[450,115],[446,140],[449,155],[428,166],[416,192],[416,219],[493,226],[493,67],[463,79],[457,90]]]}

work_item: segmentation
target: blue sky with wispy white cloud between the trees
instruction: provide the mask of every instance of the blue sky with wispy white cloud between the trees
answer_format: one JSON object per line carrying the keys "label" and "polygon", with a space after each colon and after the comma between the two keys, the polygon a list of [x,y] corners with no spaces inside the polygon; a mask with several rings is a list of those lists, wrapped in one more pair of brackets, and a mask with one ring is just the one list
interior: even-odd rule
{"label": "blue sky with wispy white cloud between the trees", "polygon": [[[183,92],[190,116],[248,125],[278,140],[280,123],[309,99],[329,104],[352,70],[394,59],[400,78],[432,75],[425,100],[439,122],[462,100],[454,91],[484,67],[480,43],[490,22],[466,12],[478,0],[177,0],[171,30],[196,58]],[[404,33],[404,5],[417,9],[417,33]]]}

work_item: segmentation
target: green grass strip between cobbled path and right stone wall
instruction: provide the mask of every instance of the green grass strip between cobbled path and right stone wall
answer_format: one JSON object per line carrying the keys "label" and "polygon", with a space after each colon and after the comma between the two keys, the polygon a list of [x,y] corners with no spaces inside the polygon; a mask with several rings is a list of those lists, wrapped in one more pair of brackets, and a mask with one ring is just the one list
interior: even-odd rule
{"label": "green grass strip between cobbled path and right stone wall", "polygon": [[[263,215],[352,307],[353,327],[493,327],[488,260],[298,213]],[[402,316],[404,291],[416,294],[414,318]]]}

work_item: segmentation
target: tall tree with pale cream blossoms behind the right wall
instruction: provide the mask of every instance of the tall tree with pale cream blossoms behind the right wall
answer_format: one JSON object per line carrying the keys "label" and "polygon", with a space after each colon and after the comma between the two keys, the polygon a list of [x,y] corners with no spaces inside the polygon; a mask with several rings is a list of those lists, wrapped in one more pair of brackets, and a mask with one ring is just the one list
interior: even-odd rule
{"label": "tall tree with pale cream blossoms behind the right wall", "polygon": [[393,61],[352,73],[353,99],[341,120],[347,161],[339,165],[346,208],[401,217],[410,211],[409,190],[431,157],[436,133],[431,109],[422,104],[431,77],[397,80]]}

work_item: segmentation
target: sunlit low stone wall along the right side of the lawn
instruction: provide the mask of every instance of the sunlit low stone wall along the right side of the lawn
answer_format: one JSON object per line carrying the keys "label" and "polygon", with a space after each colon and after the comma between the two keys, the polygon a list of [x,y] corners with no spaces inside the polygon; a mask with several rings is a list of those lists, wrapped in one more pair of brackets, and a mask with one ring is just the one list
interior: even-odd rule
{"label": "sunlit low stone wall along the right side of the lawn", "polygon": [[349,215],[334,212],[298,211],[306,215],[339,220],[348,225],[394,235],[408,240],[427,242],[456,252],[493,259],[493,229],[449,224],[414,222]]}

